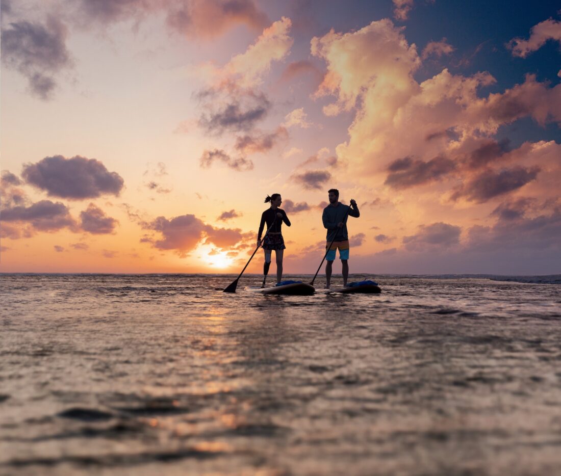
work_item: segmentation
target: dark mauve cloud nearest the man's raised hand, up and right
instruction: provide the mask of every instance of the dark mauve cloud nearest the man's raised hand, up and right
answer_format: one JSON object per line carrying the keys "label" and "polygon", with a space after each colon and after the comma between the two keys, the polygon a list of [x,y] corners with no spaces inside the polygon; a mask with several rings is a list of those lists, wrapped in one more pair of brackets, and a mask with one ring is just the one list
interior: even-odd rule
{"label": "dark mauve cloud nearest the man's raised hand, up and right", "polygon": [[412,187],[436,181],[455,168],[454,162],[445,157],[435,157],[428,162],[405,157],[389,164],[389,174],[384,183],[392,188]]}

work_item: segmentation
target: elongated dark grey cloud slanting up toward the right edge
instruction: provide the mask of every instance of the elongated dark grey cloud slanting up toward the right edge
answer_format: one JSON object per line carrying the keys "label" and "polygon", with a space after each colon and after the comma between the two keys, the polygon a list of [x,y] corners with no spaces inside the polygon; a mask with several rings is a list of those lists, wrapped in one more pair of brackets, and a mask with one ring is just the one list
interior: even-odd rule
{"label": "elongated dark grey cloud slanting up toward the right edge", "polygon": [[458,200],[465,197],[468,201],[483,203],[496,196],[518,190],[535,180],[539,172],[539,167],[514,167],[500,172],[485,170],[456,188],[451,198]]}

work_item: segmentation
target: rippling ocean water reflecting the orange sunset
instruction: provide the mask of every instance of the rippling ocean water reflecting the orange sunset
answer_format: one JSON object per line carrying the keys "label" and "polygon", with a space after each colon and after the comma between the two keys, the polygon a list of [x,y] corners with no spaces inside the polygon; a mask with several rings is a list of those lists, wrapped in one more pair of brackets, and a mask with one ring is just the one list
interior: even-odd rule
{"label": "rippling ocean water reflecting the orange sunset", "polygon": [[0,474],[561,474],[559,285],[234,277],[0,276]]}

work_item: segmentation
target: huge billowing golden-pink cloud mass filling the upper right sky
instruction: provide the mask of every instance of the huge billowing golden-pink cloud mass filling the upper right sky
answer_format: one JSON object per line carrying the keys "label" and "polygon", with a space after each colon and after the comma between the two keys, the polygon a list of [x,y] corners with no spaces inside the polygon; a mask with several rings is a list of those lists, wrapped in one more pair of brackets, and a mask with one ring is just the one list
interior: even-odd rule
{"label": "huge billowing golden-pink cloud mass filling the upper right sky", "polygon": [[[335,151],[342,163],[353,164],[358,182],[402,193],[439,182],[440,193],[448,187],[456,198],[482,202],[493,193],[507,193],[508,184],[516,190],[523,183],[530,187],[534,179],[539,179],[535,192],[543,193],[539,184],[547,182],[549,190],[548,177],[558,177],[558,165],[539,152],[552,145],[536,142],[512,150],[508,141],[494,136],[500,127],[525,117],[541,126],[561,124],[561,85],[527,75],[521,84],[481,95],[482,87],[494,84],[493,76],[466,77],[447,69],[419,83],[414,78],[420,65],[416,47],[390,20],[346,34],[331,31],[314,38],[311,50],[328,70],[315,96],[335,98],[324,113],[355,113],[348,139]],[[549,171],[537,177],[535,167],[545,170],[544,160]],[[480,177],[487,192],[475,184]],[[456,188],[458,182],[462,185]]]}

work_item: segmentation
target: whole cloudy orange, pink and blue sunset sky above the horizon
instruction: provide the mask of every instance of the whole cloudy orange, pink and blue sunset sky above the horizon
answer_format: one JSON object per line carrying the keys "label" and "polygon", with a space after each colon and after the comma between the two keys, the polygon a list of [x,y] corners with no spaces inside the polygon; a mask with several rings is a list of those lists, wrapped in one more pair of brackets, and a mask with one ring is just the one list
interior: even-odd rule
{"label": "whole cloudy orange, pink and blue sunset sky above the horizon", "polygon": [[0,271],[561,272],[559,2],[1,2]]}

